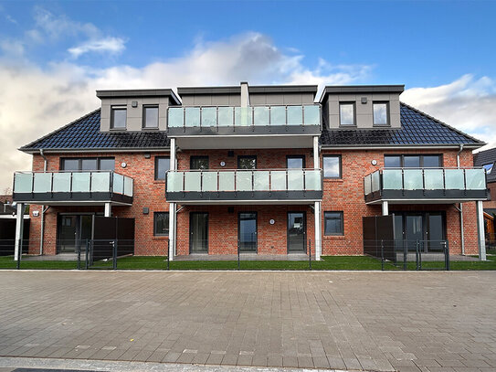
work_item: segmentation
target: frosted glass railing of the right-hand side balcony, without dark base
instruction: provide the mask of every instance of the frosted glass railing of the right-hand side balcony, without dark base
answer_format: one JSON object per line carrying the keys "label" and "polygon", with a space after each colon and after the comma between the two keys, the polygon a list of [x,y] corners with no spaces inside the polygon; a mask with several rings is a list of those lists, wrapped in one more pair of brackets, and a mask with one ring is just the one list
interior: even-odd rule
{"label": "frosted glass railing of the right-hand side balcony, without dark base", "polygon": [[364,195],[381,190],[485,190],[484,168],[382,168],[364,177]]}

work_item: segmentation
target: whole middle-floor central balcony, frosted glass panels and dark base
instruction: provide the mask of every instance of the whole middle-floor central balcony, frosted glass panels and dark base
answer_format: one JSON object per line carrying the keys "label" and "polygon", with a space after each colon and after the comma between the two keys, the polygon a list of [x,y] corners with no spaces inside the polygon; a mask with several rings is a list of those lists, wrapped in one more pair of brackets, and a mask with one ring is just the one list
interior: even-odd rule
{"label": "whole middle-floor central balcony, frosted glass panels and dark base", "polygon": [[322,199],[322,170],[168,171],[165,197],[181,204],[310,204]]}

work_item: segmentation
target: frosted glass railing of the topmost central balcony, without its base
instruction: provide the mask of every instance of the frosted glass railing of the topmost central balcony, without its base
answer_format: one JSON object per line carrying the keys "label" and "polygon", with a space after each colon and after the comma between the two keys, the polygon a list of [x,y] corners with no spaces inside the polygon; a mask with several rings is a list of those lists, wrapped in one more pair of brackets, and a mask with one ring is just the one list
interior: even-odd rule
{"label": "frosted glass railing of the topmost central balcony, without its base", "polygon": [[321,126],[321,105],[198,106],[170,107],[170,128]]}

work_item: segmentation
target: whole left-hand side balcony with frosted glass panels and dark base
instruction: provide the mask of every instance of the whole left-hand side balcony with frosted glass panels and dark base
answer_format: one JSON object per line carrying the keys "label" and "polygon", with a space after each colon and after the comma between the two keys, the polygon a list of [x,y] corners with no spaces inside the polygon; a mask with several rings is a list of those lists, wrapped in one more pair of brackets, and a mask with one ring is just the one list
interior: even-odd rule
{"label": "whole left-hand side balcony with frosted glass panels and dark base", "polygon": [[44,205],[132,205],[133,180],[111,171],[16,172],[14,201]]}

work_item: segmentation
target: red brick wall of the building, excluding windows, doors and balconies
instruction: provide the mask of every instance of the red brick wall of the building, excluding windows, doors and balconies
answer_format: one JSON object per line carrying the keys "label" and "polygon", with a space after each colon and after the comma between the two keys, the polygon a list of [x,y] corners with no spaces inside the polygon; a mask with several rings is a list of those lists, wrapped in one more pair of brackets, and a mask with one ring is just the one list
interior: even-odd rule
{"label": "red brick wall of the building, excluding windows, doors and balconies", "polygon": [[[364,203],[364,175],[374,172],[384,166],[384,154],[443,154],[444,166],[457,165],[457,151],[419,151],[419,150],[322,150],[322,154],[339,154],[342,156],[342,179],[324,179],[322,199],[322,217],[325,211],[343,211],[343,236],[323,236],[322,223],[322,254],[323,255],[355,255],[363,253],[362,218],[381,214],[380,206],[367,206]],[[112,207],[112,213],[118,217],[135,218],[135,254],[164,255],[167,251],[166,237],[153,237],[153,212],[168,211],[169,204],[164,194],[164,181],[154,180],[154,157],[167,156],[168,153],[152,153],[145,157],[144,153],[114,153],[114,154],[49,154],[48,171],[58,171],[59,158],[63,156],[109,156],[115,157],[115,170],[122,175],[134,179],[134,199],[132,207]],[[222,168],[220,162],[225,162],[225,169],[237,168],[238,155],[257,155],[257,167],[285,168],[287,155],[305,155],[305,166],[313,167],[311,149],[292,150],[235,150],[234,156],[229,156],[227,150],[180,151],[177,153],[178,168],[188,169],[191,155],[208,155],[209,168]],[[372,165],[372,160],[377,165]],[[121,167],[125,162],[127,166]],[[321,163],[322,164],[322,163]],[[460,155],[461,166],[471,166],[472,154],[464,151]],[[43,169],[43,158],[35,155],[33,170]],[[149,207],[149,214],[143,214],[143,207]],[[179,206],[180,207],[180,206]],[[229,207],[232,207],[230,209]],[[40,217],[34,217],[33,211],[40,206],[31,206],[31,239],[40,237]],[[390,205],[393,211],[443,211],[446,214],[447,239],[450,252],[460,253],[460,222],[459,211],[454,205]],[[189,215],[193,211],[208,212],[209,253],[225,254],[237,252],[237,214],[240,211],[258,213],[258,251],[267,254],[285,254],[287,252],[287,213],[290,211],[306,212],[307,241],[311,240],[314,252],[314,215],[308,205],[249,205],[249,206],[188,206],[183,207],[177,214],[177,254],[189,252]],[[477,224],[475,203],[464,203],[464,234],[466,252],[477,253]],[[45,253],[55,254],[57,239],[57,218],[59,213],[103,213],[103,207],[49,207],[45,217],[44,239]],[[274,219],[273,225],[269,220]],[[33,244],[32,252],[37,252],[39,246]]]}

